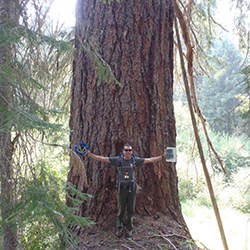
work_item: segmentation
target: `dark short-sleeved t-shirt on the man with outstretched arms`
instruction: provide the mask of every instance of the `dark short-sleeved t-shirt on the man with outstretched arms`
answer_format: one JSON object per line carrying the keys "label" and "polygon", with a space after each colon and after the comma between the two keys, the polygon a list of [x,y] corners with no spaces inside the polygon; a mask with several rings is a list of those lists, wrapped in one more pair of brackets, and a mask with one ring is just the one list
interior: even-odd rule
{"label": "dark short-sleeved t-shirt on the man with outstretched arms", "polygon": [[144,158],[133,157],[125,160],[120,156],[109,157],[111,166],[118,168],[118,177],[123,181],[135,180],[135,168],[144,164]]}

